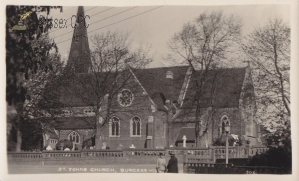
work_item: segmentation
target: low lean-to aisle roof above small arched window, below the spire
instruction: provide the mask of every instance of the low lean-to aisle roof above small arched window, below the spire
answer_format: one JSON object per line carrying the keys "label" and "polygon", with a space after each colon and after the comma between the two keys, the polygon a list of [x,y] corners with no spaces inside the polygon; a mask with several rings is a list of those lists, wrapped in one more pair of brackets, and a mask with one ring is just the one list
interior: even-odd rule
{"label": "low lean-to aisle roof above small arched window, below the spire", "polygon": [[96,117],[60,117],[59,121],[62,121],[63,124],[58,128],[59,130],[63,129],[93,129],[91,125],[95,124]]}

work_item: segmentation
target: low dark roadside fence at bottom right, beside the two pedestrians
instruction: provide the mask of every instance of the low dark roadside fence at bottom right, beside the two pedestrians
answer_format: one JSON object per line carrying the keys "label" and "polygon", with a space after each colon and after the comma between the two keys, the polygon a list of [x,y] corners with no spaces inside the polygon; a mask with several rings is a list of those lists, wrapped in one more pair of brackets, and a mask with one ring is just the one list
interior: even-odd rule
{"label": "low dark roadside fence at bottom right, beside the two pedestrians", "polygon": [[232,164],[184,163],[188,174],[292,174],[292,169],[275,167],[242,167]]}

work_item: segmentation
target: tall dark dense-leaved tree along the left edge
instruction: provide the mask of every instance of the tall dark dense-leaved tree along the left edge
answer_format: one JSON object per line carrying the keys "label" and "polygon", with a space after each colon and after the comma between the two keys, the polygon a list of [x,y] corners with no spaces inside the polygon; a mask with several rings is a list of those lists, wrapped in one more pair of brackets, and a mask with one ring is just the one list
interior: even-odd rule
{"label": "tall dark dense-leaved tree along the left edge", "polygon": [[[52,69],[48,55],[53,47],[57,49],[54,42],[43,49],[32,47],[31,41],[39,39],[40,35],[48,30],[38,28],[37,14],[39,12],[49,14],[51,8],[57,7],[59,8],[59,6],[6,6],[6,102],[9,110],[7,125],[13,126],[17,132],[16,151],[21,149],[20,128],[24,119],[23,104],[29,98],[25,80],[30,73],[37,73],[38,69],[45,72]],[[24,21],[27,30],[11,30],[20,16],[28,11],[32,13]]]}

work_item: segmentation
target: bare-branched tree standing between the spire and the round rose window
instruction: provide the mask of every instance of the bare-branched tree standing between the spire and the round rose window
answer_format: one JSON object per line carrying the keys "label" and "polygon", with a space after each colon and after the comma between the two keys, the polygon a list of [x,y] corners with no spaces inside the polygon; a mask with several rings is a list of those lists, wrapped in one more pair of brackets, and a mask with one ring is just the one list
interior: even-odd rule
{"label": "bare-branched tree standing between the spire and the round rose window", "polygon": [[[66,69],[64,97],[91,107],[95,119],[88,114],[79,116],[82,110],[73,112],[94,129],[96,149],[100,149],[102,130],[109,124],[111,114],[119,111],[118,94],[130,84],[136,84],[132,81],[132,72],[144,68],[152,59],[143,47],[131,48],[128,33],[108,31],[95,35],[91,41],[95,46],[90,52],[92,65],[89,72],[76,74],[74,69]],[[84,54],[78,55],[76,61],[85,58]]]}

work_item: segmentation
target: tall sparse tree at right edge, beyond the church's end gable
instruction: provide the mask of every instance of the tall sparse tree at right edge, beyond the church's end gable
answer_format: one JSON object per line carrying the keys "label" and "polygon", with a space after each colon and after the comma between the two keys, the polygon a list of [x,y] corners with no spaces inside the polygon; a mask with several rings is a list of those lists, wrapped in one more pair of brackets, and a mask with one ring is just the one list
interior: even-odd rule
{"label": "tall sparse tree at right edge, beyond the church's end gable", "polygon": [[268,141],[273,140],[268,144],[289,142],[291,146],[291,28],[282,19],[270,19],[265,26],[255,28],[243,49],[255,70],[258,115],[270,133]]}

